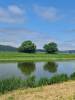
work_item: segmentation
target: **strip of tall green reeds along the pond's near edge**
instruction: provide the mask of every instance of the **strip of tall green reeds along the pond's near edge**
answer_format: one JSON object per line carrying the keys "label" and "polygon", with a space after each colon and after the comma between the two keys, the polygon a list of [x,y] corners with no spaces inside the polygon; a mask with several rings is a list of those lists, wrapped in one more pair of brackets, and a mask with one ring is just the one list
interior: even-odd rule
{"label": "strip of tall green reeds along the pond's near edge", "polygon": [[68,80],[75,80],[75,74],[73,73],[70,77],[66,74],[55,75],[49,78],[40,78],[38,81],[32,76],[27,80],[22,80],[19,78],[10,78],[5,80],[0,80],[0,93],[4,94],[8,91],[23,89],[23,88],[35,88],[44,85],[52,85],[55,83],[62,83]]}

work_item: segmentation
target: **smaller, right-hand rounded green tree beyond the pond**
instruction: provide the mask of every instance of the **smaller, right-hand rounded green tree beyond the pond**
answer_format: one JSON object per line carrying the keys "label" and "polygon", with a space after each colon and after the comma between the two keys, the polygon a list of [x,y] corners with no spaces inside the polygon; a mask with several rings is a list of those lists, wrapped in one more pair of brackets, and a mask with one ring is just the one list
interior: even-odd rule
{"label": "smaller, right-hand rounded green tree beyond the pond", "polygon": [[48,43],[48,44],[45,44],[44,47],[45,51],[47,53],[56,53],[58,51],[58,48],[57,48],[57,44],[54,43],[54,42],[51,42],[51,43]]}

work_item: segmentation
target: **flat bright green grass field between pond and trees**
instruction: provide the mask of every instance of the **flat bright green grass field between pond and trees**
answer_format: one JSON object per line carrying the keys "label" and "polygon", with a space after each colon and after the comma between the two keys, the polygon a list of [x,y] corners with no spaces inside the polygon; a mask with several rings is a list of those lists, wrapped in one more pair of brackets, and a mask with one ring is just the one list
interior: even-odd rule
{"label": "flat bright green grass field between pond and trees", "polygon": [[45,53],[19,53],[0,52],[0,61],[54,61],[54,60],[75,60],[75,54],[45,54]]}

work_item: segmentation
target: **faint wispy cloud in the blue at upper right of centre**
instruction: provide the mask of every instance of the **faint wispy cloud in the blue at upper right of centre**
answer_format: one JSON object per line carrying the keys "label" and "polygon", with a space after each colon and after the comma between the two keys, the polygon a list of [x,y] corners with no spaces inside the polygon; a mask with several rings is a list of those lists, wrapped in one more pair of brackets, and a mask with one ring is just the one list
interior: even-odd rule
{"label": "faint wispy cloud in the blue at upper right of centre", "polygon": [[62,15],[59,14],[59,10],[56,9],[55,7],[42,7],[34,5],[33,10],[37,15],[49,21],[55,21],[63,17]]}

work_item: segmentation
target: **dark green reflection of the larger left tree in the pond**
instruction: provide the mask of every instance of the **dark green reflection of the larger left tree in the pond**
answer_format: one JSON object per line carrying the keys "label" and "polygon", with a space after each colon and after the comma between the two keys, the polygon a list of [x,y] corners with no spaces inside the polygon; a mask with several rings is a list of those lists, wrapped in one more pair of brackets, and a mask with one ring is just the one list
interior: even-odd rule
{"label": "dark green reflection of the larger left tree in the pond", "polygon": [[18,68],[24,75],[31,75],[35,71],[35,63],[33,62],[22,62],[18,63]]}

